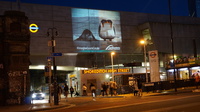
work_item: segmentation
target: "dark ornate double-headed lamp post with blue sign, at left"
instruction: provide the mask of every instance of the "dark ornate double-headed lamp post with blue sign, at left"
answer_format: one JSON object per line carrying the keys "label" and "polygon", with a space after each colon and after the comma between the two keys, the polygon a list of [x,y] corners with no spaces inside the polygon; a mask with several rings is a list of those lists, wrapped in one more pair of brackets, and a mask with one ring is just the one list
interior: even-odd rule
{"label": "dark ornate double-headed lamp post with blue sign, at left", "polygon": [[[50,36],[51,32],[51,41],[50,41],[50,46],[51,46],[51,54],[55,52],[55,39],[54,39],[54,34],[55,36],[58,35],[57,29],[55,27],[53,28],[48,28],[47,35]],[[58,87],[57,87],[57,76],[56,76],[56,64],[55,64],[55,57],[52,57],[52,65],[53,65],[53,84],[54,84],[54,105],[58,105]],[[50,94],[51,95],[51,94]]]}

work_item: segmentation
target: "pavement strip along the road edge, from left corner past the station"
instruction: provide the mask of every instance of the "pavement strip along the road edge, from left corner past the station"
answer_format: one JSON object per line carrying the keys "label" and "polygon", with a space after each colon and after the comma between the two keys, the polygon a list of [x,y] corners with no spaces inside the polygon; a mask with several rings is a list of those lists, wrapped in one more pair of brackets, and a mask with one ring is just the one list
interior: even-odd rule
{"label": "pavement strip along the road edge, from left corner past the station", "polygon": [[[157,95],[168,95],[168,94],[180,94],[180,93],[189,93],[189,92],[200,92],[200,89],[195,89],[195,87],[187,87],[187,88],[177,88],[177,92],[174,89],[172,90],[163,90],[163,91],[155,91],[155,92],[143,92],[142,97],[145,96],[157,96]],[[120,94],[117,96],[97,96],[99,98],[114,98],[114,97],[128,97],[133,96],[133,94]],[[91,98],[91,96],[77,96],[77,97],[85,97]],[[71,98],[71,97],[68,97]],[[84,102],[84,100],[83,100]],[[42,111],[42,110],[50,110],[50,109],[58,109],[58,108],[70,108],[75,106],[70,102],[66,102],[65,98],[62,98],[58,105],[54,105],[53,103],[34,103],[34,104],[24,104],[24,105],[12,105],[12,106],[0,106],[0,110],[2,112],[29,112],[29,111]]]}

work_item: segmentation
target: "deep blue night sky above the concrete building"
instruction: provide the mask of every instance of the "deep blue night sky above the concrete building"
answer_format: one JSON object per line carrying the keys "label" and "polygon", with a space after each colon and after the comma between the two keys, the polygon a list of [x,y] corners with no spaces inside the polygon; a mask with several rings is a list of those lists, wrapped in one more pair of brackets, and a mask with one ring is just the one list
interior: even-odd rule
{"label": "deep blue night sky above the concrete building", "polygon": [[[17,0],[0,1],[16,2]],[[172,15],[188,16],[187,1],[171,0]],[[114,11],[169,14],[168,0],[20,0],[20,2]]]}

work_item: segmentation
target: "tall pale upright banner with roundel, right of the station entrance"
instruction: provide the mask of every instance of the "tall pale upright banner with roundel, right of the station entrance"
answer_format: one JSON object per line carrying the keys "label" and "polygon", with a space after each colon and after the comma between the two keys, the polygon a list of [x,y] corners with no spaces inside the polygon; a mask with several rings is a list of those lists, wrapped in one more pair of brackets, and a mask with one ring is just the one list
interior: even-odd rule
{"label": "tall pale upright banner with roundel, right of the station entrance", "polygon": [[151,82],[160,81],[158,51],[149,51],[150,77]]}

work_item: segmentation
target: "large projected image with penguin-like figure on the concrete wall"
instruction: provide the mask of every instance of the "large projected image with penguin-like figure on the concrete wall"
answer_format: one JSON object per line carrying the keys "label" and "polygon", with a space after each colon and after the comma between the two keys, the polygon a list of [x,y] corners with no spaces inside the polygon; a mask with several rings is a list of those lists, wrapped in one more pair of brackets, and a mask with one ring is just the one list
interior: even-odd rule
{"label": "large projected image with penguin-like figure on the concrete wall", "polygon": [[72,27],[77,52],[121,51],[119,12],[72,8]]}

